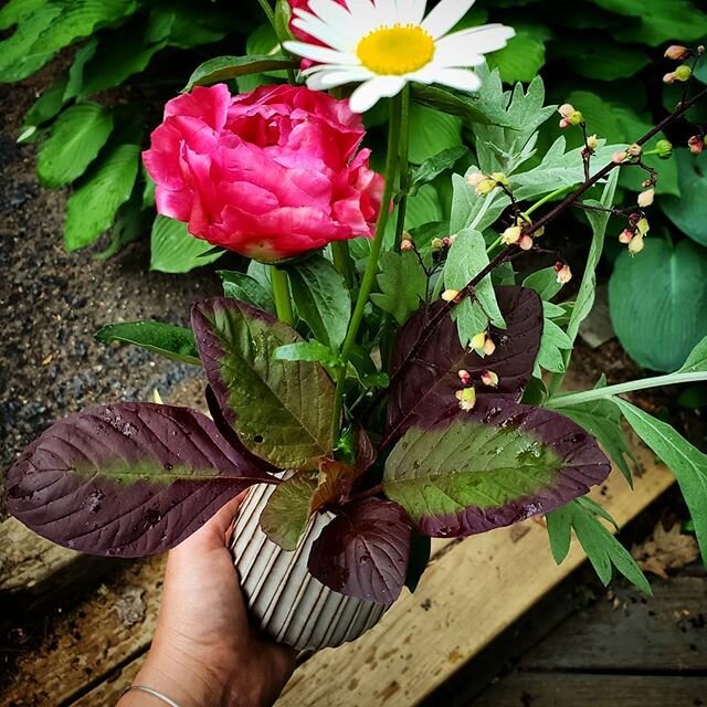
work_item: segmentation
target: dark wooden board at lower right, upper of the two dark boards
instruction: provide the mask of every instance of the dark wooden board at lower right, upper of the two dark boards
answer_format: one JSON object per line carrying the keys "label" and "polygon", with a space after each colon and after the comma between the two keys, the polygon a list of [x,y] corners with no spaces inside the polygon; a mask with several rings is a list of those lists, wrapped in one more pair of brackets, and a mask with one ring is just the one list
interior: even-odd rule
{"label": "dark wooden board at lower right, upper of the two dark boards", "polygon": [[707,580],[652,583],[651,599],[616,587],[614,602],[600,600],[562,623],[524,657],[521,668],[707,674]]}

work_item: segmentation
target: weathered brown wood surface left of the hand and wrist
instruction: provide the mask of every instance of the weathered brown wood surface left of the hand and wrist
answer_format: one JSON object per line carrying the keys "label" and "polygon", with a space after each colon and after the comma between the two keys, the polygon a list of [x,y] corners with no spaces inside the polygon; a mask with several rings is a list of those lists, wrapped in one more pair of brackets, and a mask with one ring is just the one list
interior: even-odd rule
{"label": "weathered brown wood surface left of the hand and wrist", "polygon": [[39,650],[15,655],[0,706],[67,703],[144,652],[155,631],[165,561],[124,562],[109,587],[70,611],[57,608]]}

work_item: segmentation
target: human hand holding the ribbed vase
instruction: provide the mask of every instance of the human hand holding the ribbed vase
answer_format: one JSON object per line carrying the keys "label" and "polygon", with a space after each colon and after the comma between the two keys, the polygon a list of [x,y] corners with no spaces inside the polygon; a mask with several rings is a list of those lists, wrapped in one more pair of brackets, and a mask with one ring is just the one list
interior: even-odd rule
{"label": "human hand holding the ribbed vase", "polygon": [[[152,647],[135,685],[180,707],[272,705],[294,669],[295,652],[249,624],[229,540],[243,496],[170,551]],[[159,700],[127,693],[119,707]]]}

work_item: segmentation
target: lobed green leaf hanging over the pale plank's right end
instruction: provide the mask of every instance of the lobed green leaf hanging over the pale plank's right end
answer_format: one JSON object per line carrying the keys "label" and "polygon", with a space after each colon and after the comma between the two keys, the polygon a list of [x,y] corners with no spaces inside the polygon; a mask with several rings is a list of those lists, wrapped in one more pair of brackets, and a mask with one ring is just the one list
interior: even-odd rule
{"label": "lobed green leaf hanging over the pale plank's right end", "polygon": [[[606,526],[599,520],[595,508],[582,503],[583,500],[573,500],[564,508],[558,508],[546,516],[555,561],[560,564],[567,557],[570,549],[571,531],[574,530],[577,539],[604,585],[611,581],[613,566],[632,584],[651,595],[651,585],[636,561],[614,538]],[[601,515],[606,517],[604,513]],[[613,519],[611,521],[615,525]]]}

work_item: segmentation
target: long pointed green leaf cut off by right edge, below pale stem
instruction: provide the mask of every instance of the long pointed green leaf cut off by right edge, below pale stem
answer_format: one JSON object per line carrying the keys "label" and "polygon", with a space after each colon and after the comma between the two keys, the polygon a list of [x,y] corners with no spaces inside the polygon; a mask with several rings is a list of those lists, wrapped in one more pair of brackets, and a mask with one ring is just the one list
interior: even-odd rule
{"label": "long pointed green leaf cut off by right edge, below pale stem", "polygon": [[695,524],[703,559],[707,561],[707,455],[669,424],[652,418],[621,398],[614,398],[613,401],[635,433],[675,474]]}

